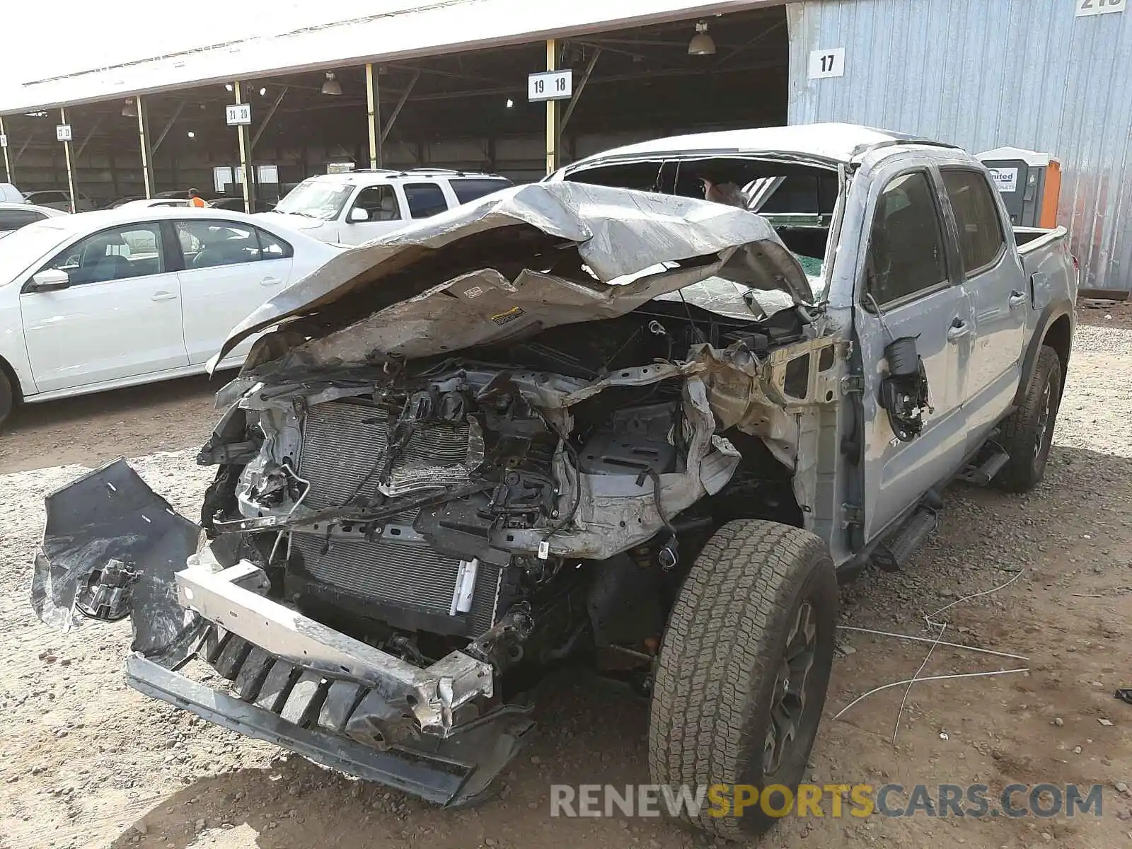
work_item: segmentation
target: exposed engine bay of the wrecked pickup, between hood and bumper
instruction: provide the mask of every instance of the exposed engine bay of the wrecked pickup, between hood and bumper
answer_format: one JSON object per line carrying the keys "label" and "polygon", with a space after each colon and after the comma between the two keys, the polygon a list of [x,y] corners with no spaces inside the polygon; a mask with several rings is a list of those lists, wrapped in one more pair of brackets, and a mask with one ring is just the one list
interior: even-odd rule
{"label": "exposed engine bay of the wrecked pickup, between hood and bumper", "polygon": [[[765,360],[812,332],[800,309],[760,326],[657,301],[460,358],[259,384],[203,452],[207,462],[237,437],[248,457],[223,466],[204,525],[242,537],[274,594],[406,660],[435,660],[505,617],[509,644],[473,655],[505,668],[533,643],[541,662],[565,657],[593,637],[594,617],[577,611],[611,591],[595,591],[603,564],[672,571],[695,554],[681,538],[715,524],[687,511],[738,495],[743,454],[715,432],[710,363],[729,345]],[[676,354],[693,349],[701,359]],[[789,470],[754,453],[737,483],[757,475],[798,523]],[[635,642],[659,634],[659,597],[653,608]]]}

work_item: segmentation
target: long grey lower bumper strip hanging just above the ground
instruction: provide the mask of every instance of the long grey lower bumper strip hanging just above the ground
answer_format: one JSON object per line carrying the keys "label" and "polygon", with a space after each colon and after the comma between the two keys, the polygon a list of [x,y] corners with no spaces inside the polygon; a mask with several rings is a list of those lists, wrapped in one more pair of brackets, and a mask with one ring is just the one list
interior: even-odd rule
{"label": "long grey lower bumper strip hanging just above the ground", "polygon": [[470,757],[474,754],[473,746],[465,745],[463,748],[468,751],[461,751],[461,743],[465,741],[458,738],[451,744],[452,754],[401,748],[380,752],[345,737],[288,722],[276,713],[192,681],[140,654],[127,658],[126,680],[139,693],[190,711],[222,728],[274,743],[323,766],[445,806],[464,805],[479,798],[498,771],[514,757],[523,736],[533,724],[529,719],[516,718],[514,727],[499,732],[495,745],[487,747],[483,758]]}

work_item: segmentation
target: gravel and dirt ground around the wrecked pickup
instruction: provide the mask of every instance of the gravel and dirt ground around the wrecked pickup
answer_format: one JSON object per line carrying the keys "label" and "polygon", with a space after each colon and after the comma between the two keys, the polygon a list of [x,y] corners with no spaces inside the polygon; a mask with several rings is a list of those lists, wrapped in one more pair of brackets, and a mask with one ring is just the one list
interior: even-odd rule
{"label": "gravel and dirt ground around the wrecked pickup", "polygon": [[[1106,318],[1110,316],[1110,318]],[[842,632],[812,760],[822,783],[1103,783],[1104,815],[1039,820],[787,820],[767,847],[1080,847],[1132,840],[1132,311],[1082,310],[1045,482],[1024,497],[957,486],[940,532],[899,574],[842,593],[843,624],[1029,657],[940,646],[921,676],[1028,666],[1026,675],[917,685],[897,743],[902,687],[927,644]],[[549,786],[646,782],[648,706],[591,680],[538,693],[540,730],[500,798],[441,812],[249,743],[126,688],[127,626],[60,635],[27,607],[42,496],[83,463],[119,454],[194,515],[207,470],[192,448],[213,423],[200,380],[27,411],[0,440],[0,846],[24,847],[649,847],[702,846],[659,820],[551,818]],[[162,453],[165,452],[165,453]],[[1021,574],[1019,574],[1021,572]],[[1104,721],[1100,721],[1104,720]],[[1117,787],[1118,786],[1118,787]],[[829,809],[826,808],[826,813]]]}

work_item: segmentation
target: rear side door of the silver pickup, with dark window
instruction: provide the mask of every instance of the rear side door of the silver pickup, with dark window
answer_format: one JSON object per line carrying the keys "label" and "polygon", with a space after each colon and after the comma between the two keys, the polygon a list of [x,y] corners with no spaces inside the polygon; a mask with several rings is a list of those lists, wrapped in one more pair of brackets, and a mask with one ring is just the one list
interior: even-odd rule
{"label": "rear side door of the silver pickup, with dark window", "polygon": [[1021,375],[1026,314],[1026,273],[1013,239],[1007,239],[994,189],[981,171],[941,169],[951,206],[963,289],[975,309],[963,404],[968,445],[983,444],[986,432],[1010,406]]}

